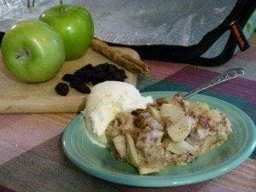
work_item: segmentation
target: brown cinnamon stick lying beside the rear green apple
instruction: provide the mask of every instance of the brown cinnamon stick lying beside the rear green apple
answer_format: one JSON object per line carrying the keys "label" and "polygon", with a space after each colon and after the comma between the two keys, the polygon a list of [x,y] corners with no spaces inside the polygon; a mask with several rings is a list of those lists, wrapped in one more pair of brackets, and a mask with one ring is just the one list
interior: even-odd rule
{"label": "brown cinnamon stick lying beside the rear green apple", "polygon": [[129,70],[131,73],[148,75],[151,71],[145,62],[134,59],[131,55],[124,54],[122,51],[114,49],[96,38],[92,40],[91,48],[117,63],[119,66]]}

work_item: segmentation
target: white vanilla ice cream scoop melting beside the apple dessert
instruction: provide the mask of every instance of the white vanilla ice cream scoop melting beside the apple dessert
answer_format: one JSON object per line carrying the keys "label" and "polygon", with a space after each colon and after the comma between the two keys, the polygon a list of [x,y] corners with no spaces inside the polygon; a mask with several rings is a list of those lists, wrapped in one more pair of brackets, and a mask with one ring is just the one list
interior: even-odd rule
{"label": "white vanilla ice cream scoop melting beside the apple dessert", "polygon": [[[105,81],[90,91],[84,108],[85,127],[96,144],[105,147],[105,131],[117,113],[146,108],[151,96],[141,96],[137,88],[125,82]],[[92,132],[92,134],[91,134]]]}

